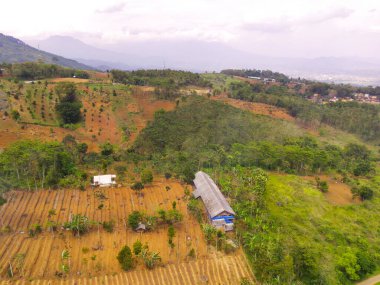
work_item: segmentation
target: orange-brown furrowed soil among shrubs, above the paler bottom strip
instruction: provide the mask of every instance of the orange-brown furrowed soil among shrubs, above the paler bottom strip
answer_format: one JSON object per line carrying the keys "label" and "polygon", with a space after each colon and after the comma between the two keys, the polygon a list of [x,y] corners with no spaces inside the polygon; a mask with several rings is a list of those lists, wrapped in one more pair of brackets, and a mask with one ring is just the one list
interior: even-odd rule
{"label": "orange-brown furrowed soil among shrubs, above the paler bottom strip", "polygon": [[[166,191],[165,186],[170,186],[171,190]],[[188,261],[187,254],[191,248],[195,249],[197,259],[202,262],[209,262],[206,260],[215,257],[215,254],[221,255],[207,248],[199,224],[187,212],[184,188],[179,183],[155,182],[143,190],[143,197],[140,198],[126,187],[106,188],[102,192],[107,197],[104,201],[99,200],[91,189],[9,192],[8,203],[0,208],[0,225],[12,229],[12,232],[0,235],[0,277],[6,278],[9,260],[17,253],[25,253],[26,278],[54,278],[55,272],[60,268],[60,254],[64,249],[68,249],[71,254],[70,277],[77,276],[78,272],[82,277],[121,272],[115,258],[117,252],[125,244],[132,247],[137,239],[148,243],[150,250],[159,251],[163,264],[177,264],[184,270],[189,265],[179,263]],[[177,202],[177,209],[184,215],[184,221],[175,225],[174,249],[171,250],[168,246],[166,225],[159,225],[156,230],[143,234],[136,233],[127,226],[128,215],[133,210],[155,214],[159,208],[170,209],[173,201]],[[100,210],[98,207],[102,203],[104,207]],[[28,229],[35,223],[40,223],[45,228],[50,209],[56,210],[56,215],[51,219],[59,224],[69,221],[72,214],[80,213],[92,221],[113,220],[115,231],[107,233],[101,227],[98,229],[94,226],[89,233],[78,238],[63,229],[54,234],[44,230],[37,237],[30,238]],[[89,248],[89,252],[84,253],[83,248]],[[237,256],[240,254],[236,253]],[[93,260],[91,257],[95,255]],[[213,262],[217,264],[218,261],[211,261],[211,264]],[[139,264],[138,268],[143,266]],[[207,270],[211,269],[208,267]],[[248,272],[246,267],[238,270]],[[236,276],[244,275],[237,273],[234,278]]]}

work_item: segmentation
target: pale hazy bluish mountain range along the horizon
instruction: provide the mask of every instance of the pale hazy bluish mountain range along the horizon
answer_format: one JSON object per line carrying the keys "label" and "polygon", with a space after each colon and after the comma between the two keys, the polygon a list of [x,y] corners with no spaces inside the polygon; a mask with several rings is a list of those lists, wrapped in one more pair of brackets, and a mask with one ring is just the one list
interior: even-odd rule
{"label": "pale hazy bluish mountain range along the horizon", "polygon": [[102,70],[172,68],[203,72],[256,68],[322,81],[380,84],[380,60],[372,58],[270,57],[200,40],[128,41],[97,48],[72,37],[51,36],[29,43]]}

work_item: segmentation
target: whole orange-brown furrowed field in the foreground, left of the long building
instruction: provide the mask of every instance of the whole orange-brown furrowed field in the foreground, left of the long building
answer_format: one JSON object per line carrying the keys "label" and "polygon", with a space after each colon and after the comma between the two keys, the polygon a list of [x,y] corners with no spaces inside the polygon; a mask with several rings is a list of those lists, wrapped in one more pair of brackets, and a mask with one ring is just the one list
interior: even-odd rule
{"label": "whole orange-brown furrowed field in the foreground, left of the long building", "polygon": [[[171,189],[167,191],[166,186]],[[71,255],[69,278],[78,279],[70,284],[125,284],[123,280],[130,280],[130,284],[198,284],[197,280],[201,282],[206,278],[203,275],[215,280],[216,283],[211,284],[236,284],[240,278],[249,276],[241,253],[225,256],[207,247],[199,224],[187,213],[184,188],[179,183],[153,183],[143,190],[141,198],[129,188],[104,189],[102,192],[106,197],[104,200],[91,189],[8,193],[8,203],[0,208],[1,228],[9,226],[11,229],[11,232],[0,235],[1,278],[7,278],[9,262],[14,262],[17,254],[25,254],[23,273],[15,273],[16,279],[23,275],[28,279],[59,280],[55,274],[60,270],[64,249]],[[183,222],[175,226],[174,249],[168,246],[167,226],[159,225],[156,230],[143,234],[128,228],[126,219],[133,210],[155,214],[159,208],[170,209],[173,201],[184,214]],[[100,204],[104,205],[101,209]],[[71,214],[83,214],[93,221],[113,220],[115,231],[108,233],[95,226],[78,238],[63,229],[56,233],[44,229],[37,237],[29,237],[27,230],[33,224],[40,223],[46,228],[51,209],[56,210],[56,215],[50,220],[60,224],[67,222]],[[118,251],[125,244],[132,247],[137,239],[148,243],[150,250],[159,251],[163,265],[170,266],[146,271],[139,264],[134,272],[118,274],[121,272],[116,260]],[[192,248],[197,257],[189,261],[187,254]],[[107,274],[112,276],[89,279]],[[162,279],[161,275],[167,277]]]}

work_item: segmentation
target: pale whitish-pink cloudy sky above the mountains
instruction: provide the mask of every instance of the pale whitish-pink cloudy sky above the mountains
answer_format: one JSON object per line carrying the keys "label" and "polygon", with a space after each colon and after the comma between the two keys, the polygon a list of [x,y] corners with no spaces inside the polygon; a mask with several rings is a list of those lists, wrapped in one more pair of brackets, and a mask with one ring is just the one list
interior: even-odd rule
{"label": "pale whitish-pink cloudy sky above the mountains", "polygon": [[217,41],[272,56],[380,57],[379,0],[12,0],[0,32],[123,41]]}

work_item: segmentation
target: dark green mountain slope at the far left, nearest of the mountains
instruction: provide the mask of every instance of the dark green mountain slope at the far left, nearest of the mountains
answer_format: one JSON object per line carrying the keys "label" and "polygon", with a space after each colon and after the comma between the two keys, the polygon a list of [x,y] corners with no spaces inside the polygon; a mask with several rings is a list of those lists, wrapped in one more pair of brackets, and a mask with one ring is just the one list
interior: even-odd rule
{"label": "dark green mountain slope at the far left, nearest of the mountains", "polygon": [[28,61],[43,61],[76,69],[94,69],[75,60],[33,48],[19,39],[0,33],[0,62],[18,63]]}

